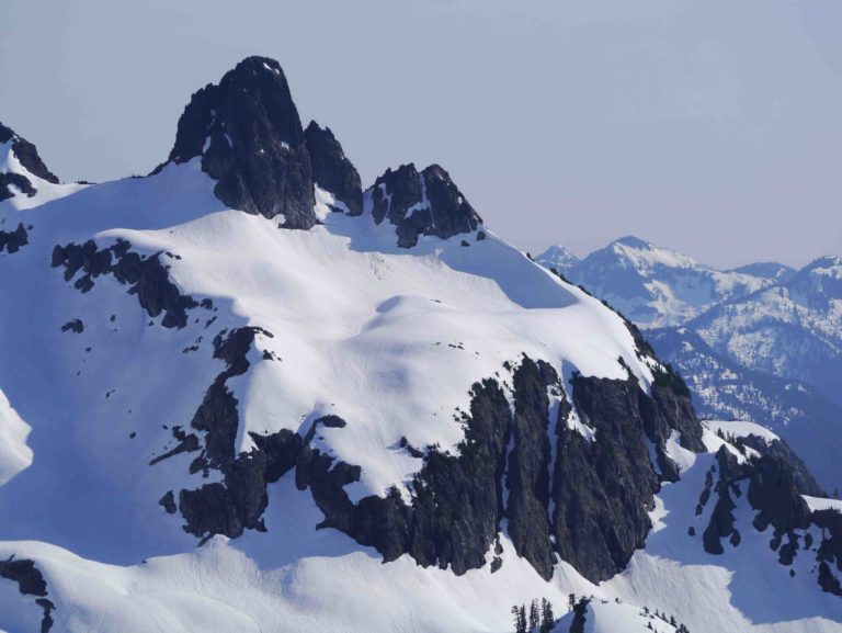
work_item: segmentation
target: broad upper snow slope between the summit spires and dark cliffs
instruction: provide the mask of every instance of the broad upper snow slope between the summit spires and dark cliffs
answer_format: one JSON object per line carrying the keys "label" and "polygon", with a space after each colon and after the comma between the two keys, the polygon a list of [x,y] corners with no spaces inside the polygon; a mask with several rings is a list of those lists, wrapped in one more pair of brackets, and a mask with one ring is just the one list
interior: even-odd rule
{"label": "broad upper snow slope between the summit spires and dark cliffs", "polygon": [[[250,448],[250,431],[304,433],[314,419],[340,415],[348,427],[323,429],[317,444],[362,467],[352,499],[391,485],[406,494],[421,461],[399,449],[401,438],[455,447],[463,428],[454,416],[467,409],[474,382],[521,353],[568,376],[614,378],[625,377],[622,357],[644,385],[651,381],[614,313],[493,235],[469,248],[422,237],[408,251],[394,246],[390,227],[341,213],[309,231],[280,230],[276,221],[221,208],[212,185],[193,160],[7,212],[33,228],[0,267],[0,285],[18,297],[0,305],[0,385],[33,427],[36,457],[3,489],[0,508],[42,502],[0,524],[3,538],[121,563],[183,550],[180,518],[158,499],[205,481],[187,473],[187,455],[148,463],[173,448],[170,429],[190,422],[221,371],[210,341],[224,329],[263,328],[273,336],[259,335],[258,350],[277,359],[255,352],[250,372],[229,383],[243,420],[239,449]],[[197,308],[182,329],[160,327],[112,275],[80,292],[81,273],[65,280],[45,265],[56,245],[90,238],[163,251],[180,291],[212,298],[215,309]],[[83,330],[61,331],[73,319]],[[110,511],[98,495],[79,497],[84,482],[110,490]],[[103,513],[107,542],[91,531]]]}

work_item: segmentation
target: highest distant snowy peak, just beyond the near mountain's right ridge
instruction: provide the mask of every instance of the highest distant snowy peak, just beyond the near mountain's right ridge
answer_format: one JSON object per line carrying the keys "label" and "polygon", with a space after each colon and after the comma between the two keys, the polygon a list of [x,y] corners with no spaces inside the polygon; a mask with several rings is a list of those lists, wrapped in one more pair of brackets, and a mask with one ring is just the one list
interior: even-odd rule
{"label": "highest distant snowy peak, just beyond the near mountain's right ridge", "polygon": [[773,283],[715,270],[634,236],[592,252],[570,267],[567,275],[646,328],[680,325],[716,303]]}

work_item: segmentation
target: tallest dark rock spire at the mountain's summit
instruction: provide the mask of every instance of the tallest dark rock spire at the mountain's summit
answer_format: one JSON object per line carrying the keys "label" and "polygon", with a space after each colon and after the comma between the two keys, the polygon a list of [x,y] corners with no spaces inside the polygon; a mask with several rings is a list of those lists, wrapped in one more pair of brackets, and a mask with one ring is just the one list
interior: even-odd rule
{"label": "tallest dark rock spire at the mountain's summit", "polygon": [[298,111],[277,61],[249,57],[218,86],[193,94],[179,120],[172,162],[202,157],[216,196],[231,208],[283,215],[287,228],[310,228],[310,158]]}

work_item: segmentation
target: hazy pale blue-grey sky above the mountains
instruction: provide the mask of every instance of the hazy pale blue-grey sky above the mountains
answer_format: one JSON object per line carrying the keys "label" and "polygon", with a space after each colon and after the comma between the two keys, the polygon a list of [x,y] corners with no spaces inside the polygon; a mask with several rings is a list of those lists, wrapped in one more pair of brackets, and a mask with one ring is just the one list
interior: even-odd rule
{"label": "hazy pale blue-grey sky above the mountains", "polygon": [[145,173],[252,54],[364,182],[439,162],[533,252],[842,255],[839,0],[2,0],[0,121],[66,180]]}

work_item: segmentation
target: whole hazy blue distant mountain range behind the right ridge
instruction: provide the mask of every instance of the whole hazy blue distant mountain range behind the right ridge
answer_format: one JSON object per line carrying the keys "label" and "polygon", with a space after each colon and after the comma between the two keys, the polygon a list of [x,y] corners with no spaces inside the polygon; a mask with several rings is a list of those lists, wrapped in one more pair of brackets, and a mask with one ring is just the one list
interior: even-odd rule
{"label": "whole hazy blue distant mountain range behind the right ridge", "polygon": [[702,415],[766,425],[842,488],[841,258],[717,270],[623,237],[584,259],[553,246],[536,260],[647,330]]}

